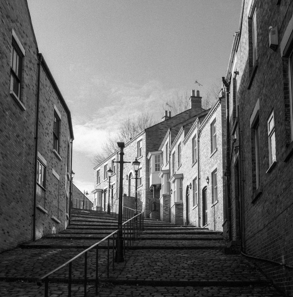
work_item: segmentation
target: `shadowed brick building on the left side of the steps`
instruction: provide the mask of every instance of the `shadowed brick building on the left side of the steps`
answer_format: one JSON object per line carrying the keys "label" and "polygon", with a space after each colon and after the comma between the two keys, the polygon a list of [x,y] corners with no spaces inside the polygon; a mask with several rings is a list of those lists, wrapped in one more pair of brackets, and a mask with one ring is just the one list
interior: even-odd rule
{"label": "shadowed brick building on the left side of the steps", "polygon": [[68,224],[70,111],[38,52],[26,1],[1,1],[0,252]]}

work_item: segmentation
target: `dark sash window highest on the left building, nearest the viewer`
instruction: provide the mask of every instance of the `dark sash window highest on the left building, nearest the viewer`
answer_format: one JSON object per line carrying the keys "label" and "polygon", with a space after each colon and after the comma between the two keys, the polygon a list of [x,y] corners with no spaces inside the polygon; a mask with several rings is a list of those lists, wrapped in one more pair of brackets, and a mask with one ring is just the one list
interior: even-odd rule
{"label": "dark sash window highest on the left building, nearest the viewer", "polygon": [[21,51],[17,46],[17,42],[12,39],[11,61],[10,61],[10,91],[21,101],[21,73],[22,73],[22,57]]}

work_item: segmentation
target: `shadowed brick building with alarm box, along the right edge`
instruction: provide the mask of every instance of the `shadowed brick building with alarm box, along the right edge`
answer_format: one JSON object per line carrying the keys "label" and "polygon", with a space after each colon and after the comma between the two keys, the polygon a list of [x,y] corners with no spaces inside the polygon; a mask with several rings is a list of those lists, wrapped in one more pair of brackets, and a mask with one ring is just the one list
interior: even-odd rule
{"label": "shadowed brick building with alarm box, along the right edge", "polygon": [[[245,0],[227,75],[224,232],[293,296],[293,4]],[[230,94],[229,94],[230,92]],[[281,264],[281,265],[280,265]],[[291,268],[288,268],[291,266]]]}

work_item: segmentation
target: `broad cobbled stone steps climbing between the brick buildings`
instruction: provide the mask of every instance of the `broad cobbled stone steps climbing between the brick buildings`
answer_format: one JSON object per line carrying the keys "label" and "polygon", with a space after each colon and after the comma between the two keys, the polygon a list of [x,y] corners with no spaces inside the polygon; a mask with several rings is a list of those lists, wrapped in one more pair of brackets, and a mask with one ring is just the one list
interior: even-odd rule
{"label": "broad cobbled stone steps climbing between the brick buildings", "polygon": [[[224,253],[220,232],[154,219],[145,219],[144,227],[109,278],[106,243],[99,247],[98,296],[283,296],[251,260]],[[0,296],[44,296],[36,278],[114,230],[115,215],[73,210],[63,232],[0,255]],[[72,265],[72,296],[83,296],[83,261],[78,258]],[[92,297],[95,251],[88,252],[87,263],[87,296]],[[68,269],[62,268],[50,278],[49,296],[67,296],[67,281]]]}

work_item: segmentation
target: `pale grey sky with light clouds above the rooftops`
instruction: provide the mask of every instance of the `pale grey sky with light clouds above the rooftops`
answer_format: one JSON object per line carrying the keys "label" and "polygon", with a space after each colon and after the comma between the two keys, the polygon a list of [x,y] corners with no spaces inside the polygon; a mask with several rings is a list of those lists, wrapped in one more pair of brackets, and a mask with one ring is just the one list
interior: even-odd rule
{"label": "pale grey sky with light clouds above the rooftops", "polygon": [[109,131],[226,76],[241,0],[27,0],[39,52],[71,111],[73,182],[94,189]]}

